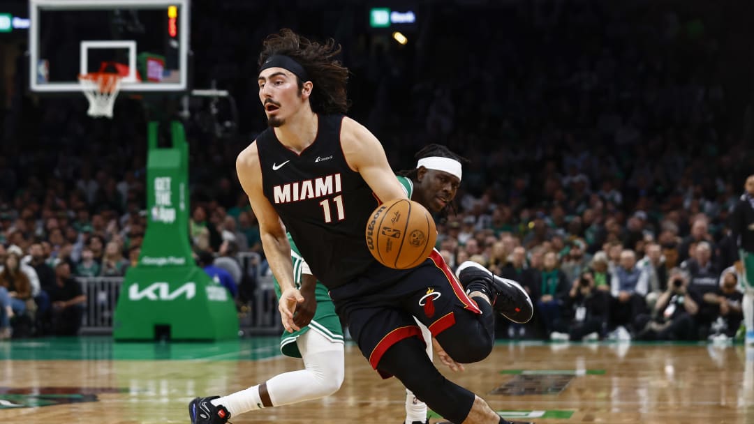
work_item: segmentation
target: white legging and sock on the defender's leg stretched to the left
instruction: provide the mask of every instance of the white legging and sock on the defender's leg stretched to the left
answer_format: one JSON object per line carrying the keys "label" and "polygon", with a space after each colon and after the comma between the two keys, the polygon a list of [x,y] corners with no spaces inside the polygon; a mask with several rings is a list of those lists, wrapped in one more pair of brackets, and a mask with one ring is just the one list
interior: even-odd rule
{"label": "white legging and sock on the defender's leg stretched to the left", "polygon": [[[314,330],[298,340],[305,369],[278,374],[267,380],[267,392],[273,406],[294,404],[323,398],[337,392],[345,376],[343,343],[333,342]],[[222,404],[231,416],[262,409],[259,385],[212,401]]]}

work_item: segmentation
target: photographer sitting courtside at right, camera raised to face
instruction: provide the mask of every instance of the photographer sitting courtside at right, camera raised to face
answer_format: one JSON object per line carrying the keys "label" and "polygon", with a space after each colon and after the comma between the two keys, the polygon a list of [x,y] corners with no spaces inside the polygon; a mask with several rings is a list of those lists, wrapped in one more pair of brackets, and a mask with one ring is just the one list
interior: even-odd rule
{"label": "photographer sitting courtside at right, camera raised to face", "polygon": [[[694,316],[699,312],[699,304],[688,292],[688,276],[679,268],[670,270],[667,290],[657,298],[654,305],[654,318],[648,321],[639,332],[639,340],[694,340],[697,325]],[[641,320],[641,319],[639,319]]]}

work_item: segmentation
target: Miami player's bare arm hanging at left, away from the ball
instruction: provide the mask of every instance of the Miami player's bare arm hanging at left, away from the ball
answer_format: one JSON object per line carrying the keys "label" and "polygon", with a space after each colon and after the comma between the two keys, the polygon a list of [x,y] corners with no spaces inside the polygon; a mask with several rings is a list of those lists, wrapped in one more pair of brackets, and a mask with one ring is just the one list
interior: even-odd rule
{"label": "Miami player's bare arm hanging at left, away from the ball", "polygon": [[293,285],[293,265],[290,260],[290,243],[285,233],[285,227],[280,216],[277,215],[264,191],[262,191],[262,169],[259,166],[259,152],[256,141],[241,151],[236,159],[238,181],[244,188],[251,209],[259,221],[259,238],[262,239],[262,249],[272,270],[272,274],[280,284],[280,301],[277,309],[287,331],[300,330],[293,322],[293,312],[296,304],[304,298]]}

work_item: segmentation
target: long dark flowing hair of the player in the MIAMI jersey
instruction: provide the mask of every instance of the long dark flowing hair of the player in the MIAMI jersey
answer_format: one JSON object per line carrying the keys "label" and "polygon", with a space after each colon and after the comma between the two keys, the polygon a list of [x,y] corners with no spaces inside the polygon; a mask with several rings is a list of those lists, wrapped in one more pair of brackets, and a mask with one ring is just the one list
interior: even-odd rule
{"label": "long dark flowing hair of the player in the MIAMI jersey", "polygon": [[[346,98],[345,90],[348,68],[335,59],[340,51],[340,44],[336,44],[333,38],[320,44],[285,28],[265,39],[258,65],[261,67],[269,56],[275,54],[289,56],[306,69],[314,84],[309,97],[311,110],[322,114],[345,114],[351,102]],[[305,81],[298,77],[296,80],[299,80],[300,90]]]}

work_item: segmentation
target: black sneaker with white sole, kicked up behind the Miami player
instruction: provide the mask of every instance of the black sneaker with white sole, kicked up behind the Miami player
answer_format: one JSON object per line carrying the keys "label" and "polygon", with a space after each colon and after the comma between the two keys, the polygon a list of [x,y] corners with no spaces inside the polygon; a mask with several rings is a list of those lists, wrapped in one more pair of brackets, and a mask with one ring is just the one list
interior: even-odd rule
{"label": "black sneaker with white sole, kicked up behind the Miami player", "polygon": [[532,299],[518,282],[498,277],[474,261],[465,261],[455,273],[464,288],[474,281],[486,282],[492,292],[492,309],[510,321],[524,324],[532,319]]}

